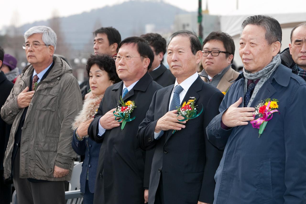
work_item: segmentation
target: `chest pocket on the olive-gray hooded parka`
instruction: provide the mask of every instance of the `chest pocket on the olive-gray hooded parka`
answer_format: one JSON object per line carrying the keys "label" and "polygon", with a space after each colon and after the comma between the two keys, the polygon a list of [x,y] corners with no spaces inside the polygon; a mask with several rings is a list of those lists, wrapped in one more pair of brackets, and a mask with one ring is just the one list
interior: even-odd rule
{"label": "chest pocket on the olive-gray hooded parka", "polygon": [[59,89],[44,89],[41,90],[38,94],[39,97],[37,98],[37,110],[45,111],[55,111],[57,99],[58,99],[58,92]]}

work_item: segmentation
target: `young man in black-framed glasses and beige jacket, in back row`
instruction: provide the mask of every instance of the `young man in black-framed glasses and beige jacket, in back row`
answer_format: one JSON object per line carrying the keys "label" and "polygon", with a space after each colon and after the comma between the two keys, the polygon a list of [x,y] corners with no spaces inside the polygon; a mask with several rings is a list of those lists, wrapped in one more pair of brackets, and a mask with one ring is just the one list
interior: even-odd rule
{"label": "young man in black-framed glasses and beige jacket, in back row", "polygon": [[232,69],[235,44],[225,32],[211,32],[203,42],[203,71],[200,77],[226,93],[239,72]]}

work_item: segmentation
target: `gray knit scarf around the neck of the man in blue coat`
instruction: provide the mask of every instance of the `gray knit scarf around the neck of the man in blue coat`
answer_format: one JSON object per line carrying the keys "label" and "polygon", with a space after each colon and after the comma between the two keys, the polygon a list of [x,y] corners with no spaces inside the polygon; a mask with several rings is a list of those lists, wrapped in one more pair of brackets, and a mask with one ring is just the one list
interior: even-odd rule
{"label": "gray knit scarf around the neck of the man in blue coat", "polygon": [[[244,94],[247,91],[247,86],[248,86],[248,80],[257,80],[260,79],[256,86],[255,89],[252,93],[250,102],[248,103],[248,107],[252,104],[252,101],[254,100],[256,94],[258,93],[259,89],[263,86],[263,84],[271,77],[272,73],[276,70],[276,68],[281,64],[281,57],[279,54],[273,57],[272,61],[265,66],[262,70],[256,72],[256,73],[251,73],[248,70],[245,70],[243,67],[243,75],[245,77],[244,79]],[[244,99],[243,99],[244,100]],[[264,100],[264,99],[263,99]],[[244,104],[244,101],[242,102]]]}

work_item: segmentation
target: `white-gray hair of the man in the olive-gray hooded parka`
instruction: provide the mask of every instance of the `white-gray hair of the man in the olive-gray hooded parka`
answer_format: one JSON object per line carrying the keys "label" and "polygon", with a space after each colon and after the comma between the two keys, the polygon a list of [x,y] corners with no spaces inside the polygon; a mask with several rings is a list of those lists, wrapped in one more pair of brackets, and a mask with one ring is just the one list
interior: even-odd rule
{"label": "white-gray hair of the man in the olive-gray hooded parka", "polygon": [[56,33],[49,27],[47,26],[34,26],[30,29],[28,29],[24,33],[24,40],[26,41],[28,37],[32,36],[35,33],[42,33],[43,34],[43,42],[46,45],[53,45],[54,50],[56,48]]}

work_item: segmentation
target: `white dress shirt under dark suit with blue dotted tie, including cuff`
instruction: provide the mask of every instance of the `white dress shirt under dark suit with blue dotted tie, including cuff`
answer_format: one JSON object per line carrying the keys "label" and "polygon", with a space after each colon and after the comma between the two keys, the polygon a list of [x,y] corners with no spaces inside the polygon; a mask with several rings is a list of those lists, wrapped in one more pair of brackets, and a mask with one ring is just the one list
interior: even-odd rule
{"label": "white dress shirt under dark suit with blue dotted tie, including cuff", "polygon": [[[196,81],[198,76],[199,76],[199,74],[196,72],[196,73],[192,74],[190,77],[188,77],[187,79],[185,79],[181,84],[179,84],[183,88],[183,91],[180,93],[180,103],[183,102],[183,99],[184,99],[188,89],[193,84],[193,82]],[[177,79],[175,79],[174,87],[176,85],[178,85]],[[168,110],[170,110],[171,101],[172,101],[172,98],[173,98],[173,93],[174,93],[174,88],[173,88],[173,90],[171,92],[171,97],[170,97],[170,102],[169,102]],[[159,139],[162,136],[163,133],[164,133],[164,131],[162,131],[162,130],[159,133],[154,132],[154,139]]]}

